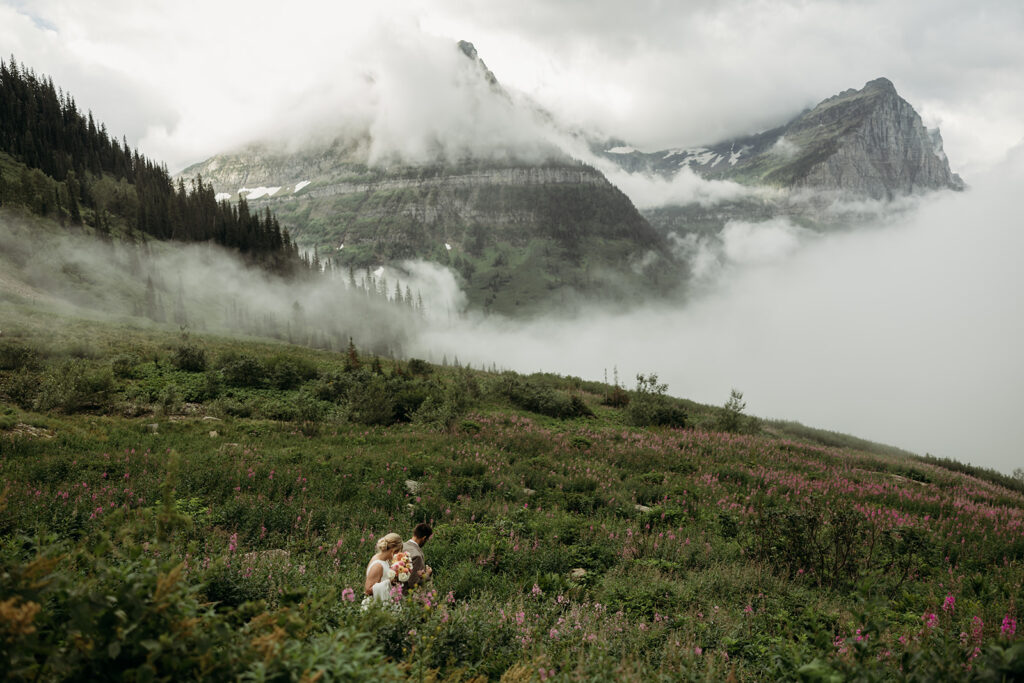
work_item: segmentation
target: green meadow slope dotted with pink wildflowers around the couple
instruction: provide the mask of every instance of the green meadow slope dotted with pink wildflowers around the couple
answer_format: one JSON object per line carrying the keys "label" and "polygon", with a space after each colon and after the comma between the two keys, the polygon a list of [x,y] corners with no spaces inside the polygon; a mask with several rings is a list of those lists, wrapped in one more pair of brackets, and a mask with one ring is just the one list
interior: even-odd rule
{"label": "green meadow slope dotted with pink wildflowers around the couple", "polygon": [[[211,373],[174,367],[182,340],[170,332],[0,305],[8,396],[26,376],[48,395],[69,369],[101,388],[73,414],[0,408],[0,603],[42,605],[35,632],[7,614],[23,621],[4,627],[14,645],[0,654],[27,676],[34,665],[18,657],[31,652],[80,676],[146,656],[181,676],[350,666],[366,678],[426,669],[510,680],[540,669],[764,680],[801,667],[804,678],[899,678],[898,667],[967,678],[1024,663],[1024,646],[990,649],[1009,644],[1001,620],[1024,601],[1024,497],[988,481],[786,424],[766,426],[777,436],[638,429],[600,404],[607,387],[554,375],[531,382],[575,392],[594,418],[529,414],[502,394],[502,376],[434,369],[439,385],[473,396],[452,430],[354,424],[344,400],[301,421],[317,383],[345,374],[337,354],[194,337],[211,368],[245,353],[316,375],[284,390],[225,386],[214,372],[211,390]],[[36,359],[15,370],[25,354],[12,348]],[[695,424],[716,418],[686,405]],[[361,613],[341,590],[359,590],[374,539],[419,520],[436,529],[437,596],[429,608]],[[44,571],[26,564],[37,553],[65,559]],[[136,588],[119,592],[129,575]],[[955,606],[944,611],[947,595]],[[220,606],[189,607],[197,599]],[[73,633],[70,605],[90,624],[127,610],[134,630]],[[180,632],[187,620],[208,639]],[[140,645],[147,633],[177,633],[181,650]],[[61,649],[75,638],[84,649]],[[209,647],[220,654],[201,661]]]}

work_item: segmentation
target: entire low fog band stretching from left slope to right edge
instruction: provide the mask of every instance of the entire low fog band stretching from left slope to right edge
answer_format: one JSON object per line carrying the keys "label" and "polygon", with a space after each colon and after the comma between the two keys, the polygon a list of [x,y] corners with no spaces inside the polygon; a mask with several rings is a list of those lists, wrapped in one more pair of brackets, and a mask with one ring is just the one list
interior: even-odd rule
{"label": "entire low fog band stretching from left slope to right edge", "polygon": [[713,404],[737,387],[755,415],[1009,472],[1024,440],[1022,183],[1024,147],[966,193],[857,230],[732,222],[714,239],[680,239],[697,278],[685,301],[526,321],[460,314],[456,278],[433,264],[374,275],[379,289],[386,278],[392,291],[419,290],[422,319],[379,294],[350,296],[347,272],[285,286],[208,246],[154,245],[133,266],[133,248],[44,240],[9,222],[0,272],[5,291],[75,310],[129,314],[152,275],[168,314],[181,289],[211,331],[305,330],[339,344],[351,334],[377,352],[591,379],[656,372],[673,394]]}

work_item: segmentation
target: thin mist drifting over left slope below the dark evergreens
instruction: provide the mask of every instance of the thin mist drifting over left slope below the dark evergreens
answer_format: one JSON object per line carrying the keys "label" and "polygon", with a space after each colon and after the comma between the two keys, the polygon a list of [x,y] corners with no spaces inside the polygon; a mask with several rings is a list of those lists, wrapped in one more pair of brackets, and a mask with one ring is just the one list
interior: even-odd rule
{"label": "thin mist drifting over left slope below the dark evergreens", "polygon": [[259,336],[402,355],[458,305],[451,273],[426,262],[284,279],[214,244],[101,240],[0,213],[5,298],[63,313],[193,332]]}

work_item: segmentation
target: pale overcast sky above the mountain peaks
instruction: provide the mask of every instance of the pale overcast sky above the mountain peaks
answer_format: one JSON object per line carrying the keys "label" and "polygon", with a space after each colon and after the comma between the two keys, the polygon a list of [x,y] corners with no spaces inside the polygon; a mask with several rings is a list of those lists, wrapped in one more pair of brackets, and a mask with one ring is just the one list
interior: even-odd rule
{"label": "pale overcast sky above the mountain peaks", "polygon": [[350,82],[465,39],[565,121],[652,148],[771,127],[886,76],[967,177],[1024,138],[1022,38],[1018,0],[0,2],[4,54],[172,171],[310,111],[350,116],[366,104]]}

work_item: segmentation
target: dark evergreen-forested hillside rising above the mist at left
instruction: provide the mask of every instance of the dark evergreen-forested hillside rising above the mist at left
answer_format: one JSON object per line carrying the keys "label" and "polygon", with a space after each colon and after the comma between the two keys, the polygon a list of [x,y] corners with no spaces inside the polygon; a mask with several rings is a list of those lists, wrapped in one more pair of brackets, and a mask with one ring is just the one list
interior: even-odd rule
{"label": "dark evergreen-forested hillside rising above the mist at left", "polygon": [[218,204],[202,178],[175,186],[166,166],[118,141],[13,57],[0,61],[0,206],[104,234],[211,241],[281,274],[308,266],[269,210]]}

